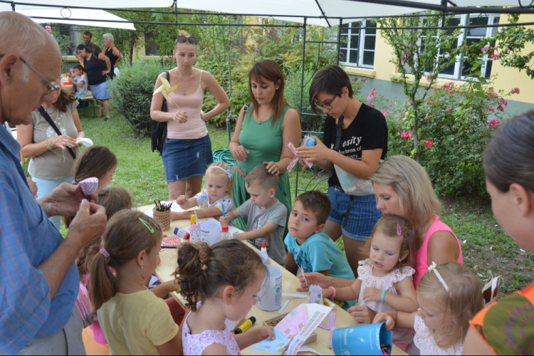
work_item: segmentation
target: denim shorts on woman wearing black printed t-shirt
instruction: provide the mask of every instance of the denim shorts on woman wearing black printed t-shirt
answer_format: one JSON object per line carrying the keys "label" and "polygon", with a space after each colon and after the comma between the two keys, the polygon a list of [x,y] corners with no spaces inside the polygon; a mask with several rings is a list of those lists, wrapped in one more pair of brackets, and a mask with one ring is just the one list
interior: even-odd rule
{"label": "denim shorts on woman wearing black printed t-shirt", "polygon": [[382,217],[382,211],[377,209],[375,196],[356,197],[334,187],[328,187],[328,198],[332,203],[332,212],[328,220],[341,224],[341,231],[348,238],[367,241],[378,219]]}

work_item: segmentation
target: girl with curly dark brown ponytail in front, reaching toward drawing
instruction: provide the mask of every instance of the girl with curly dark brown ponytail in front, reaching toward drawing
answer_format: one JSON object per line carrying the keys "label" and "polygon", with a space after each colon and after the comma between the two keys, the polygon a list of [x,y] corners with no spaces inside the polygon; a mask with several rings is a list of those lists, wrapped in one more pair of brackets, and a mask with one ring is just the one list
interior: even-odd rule
{"label": "girl with curly dark brown ponytail in front, reaching toward drawing", "polygon": [[224,325],[227,318],[240,320],[256,304],[266,268],[253,249],[238,240],[212,248],[182,244],[178,266],[177,281],[191,308],[182,332],[184,355],[241,355],[240,350],[274,338],[269,327],[232,335]]}

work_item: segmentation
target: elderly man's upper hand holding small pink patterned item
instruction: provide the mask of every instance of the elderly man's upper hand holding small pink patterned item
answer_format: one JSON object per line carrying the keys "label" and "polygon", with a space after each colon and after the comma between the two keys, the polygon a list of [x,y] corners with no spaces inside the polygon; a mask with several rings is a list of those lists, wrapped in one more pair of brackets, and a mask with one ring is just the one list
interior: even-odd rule
{"label": "elderly man's upper hand holding small pink patterned item", "polygon": [[38,203],[45,212],[46,216],[75,216],[80,209],[82,199],[96,203],[98,196],[93,193],[90,197],[82,192],[79,185],[62,183],[52,192],[48,193],[43,199],[39,199]]}

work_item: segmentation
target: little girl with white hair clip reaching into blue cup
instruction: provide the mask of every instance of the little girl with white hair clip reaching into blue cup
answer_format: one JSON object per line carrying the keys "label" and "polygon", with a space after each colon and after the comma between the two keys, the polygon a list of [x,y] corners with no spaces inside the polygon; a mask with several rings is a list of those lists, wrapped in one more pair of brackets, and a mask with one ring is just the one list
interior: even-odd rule
{"label": "little girl with white hair clip reaching into blue cup", "polygon": [[414,328],[421,355],[461,355],[469,320],[483,308],[478,278],[459,263],[434,263],[417,286],[417,300],[417,313],[378,313],[374,323],[385,320],[387,330]]}

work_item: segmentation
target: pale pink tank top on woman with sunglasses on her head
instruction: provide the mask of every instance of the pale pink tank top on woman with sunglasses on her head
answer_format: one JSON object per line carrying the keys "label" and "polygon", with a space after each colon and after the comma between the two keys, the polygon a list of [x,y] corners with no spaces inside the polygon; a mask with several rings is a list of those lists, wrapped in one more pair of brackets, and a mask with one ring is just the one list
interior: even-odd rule
{"label": "pale pink tank top on woman with sunglasses on her head", "polygon": [[[187,112],[188,121],[180,124],[174,120],[167,121],[167,138],[170,139],[198,139],[208,135],[206,122],[200,118],[202,103],[204,102],[204,91],[202,91],[202,70],[200,71],[199,88],[192,95],[178,95],[174,92],[169,94],[167,101],[167,111],[177,112],[178,108]],[[173,101],[174,100],[174,101]]]}

